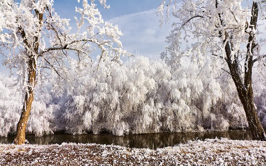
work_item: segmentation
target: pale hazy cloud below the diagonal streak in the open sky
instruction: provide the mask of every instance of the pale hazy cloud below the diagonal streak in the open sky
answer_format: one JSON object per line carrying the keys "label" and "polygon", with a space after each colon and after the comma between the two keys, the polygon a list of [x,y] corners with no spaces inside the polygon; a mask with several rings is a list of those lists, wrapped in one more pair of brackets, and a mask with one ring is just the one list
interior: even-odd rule
{"label": "pale hazy cloud below the diagonal streak in the open sky", "polygon": [[143,56],[159,58],[160,52],[167,46],[165,40],[171,31],[171,24],[166,23],[160,28],[158,22],[160,18],[155,12],[156,9],[150,9],[114,17],[107,21],[117,24],[124,33],[120,40],[125,50],[132,53],[136,53],[138,50]]}

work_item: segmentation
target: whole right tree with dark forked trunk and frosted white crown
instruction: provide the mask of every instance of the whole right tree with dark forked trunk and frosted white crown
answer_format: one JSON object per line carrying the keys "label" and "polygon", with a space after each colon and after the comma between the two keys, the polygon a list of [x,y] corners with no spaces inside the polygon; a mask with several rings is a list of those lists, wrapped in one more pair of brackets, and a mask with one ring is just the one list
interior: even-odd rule
{"label": "whole right tree with dark forked trunk and frosted white crown", "polygon": [[[170,6],[167,3],[169,20]],[[167,37],[168,51],[172,65],[179,64],[181,57],[191,56],[192,61],[204,64],[206,56],[220,58],[228,66],[228,72],[236,86],[239,99],[245,110],[252,136],[257,140],[266,140],[265,131],[257,115],[252,89],[252,71],[261,71],[265,66],[265,57],[261,48],[266,39],[260,39],[259,24],[265,20],[265,1],[253,0],[251,5],[242,0],[183,0],[181,7],[174,2],[173,16],[177,22]],[[163,23],[163,9],[166,0],[158,7]],[[180,51],[183,41],[197,42]],[[214,64],[215,65],[215,64]],[[261,73],[264,74],[265,73]]]}

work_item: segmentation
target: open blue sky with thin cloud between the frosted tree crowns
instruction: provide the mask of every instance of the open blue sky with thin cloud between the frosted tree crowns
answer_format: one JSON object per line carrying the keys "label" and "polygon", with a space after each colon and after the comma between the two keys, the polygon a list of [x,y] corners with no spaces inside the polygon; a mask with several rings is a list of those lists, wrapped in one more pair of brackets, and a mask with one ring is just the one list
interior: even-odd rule
{"label": "open blue sky with thin cloud between the frosted tree crowns", "polygon": [[[95,2],[99,4],[97,0]],[[80,3],[77,0],[54,0],[53,4],[57,14],[61,18],[71,19],[71,27],[76,27],[75,7],[81,7],[82,0]],[[159,58],[160,52],[167,46],[164,41],[171,30],[170,24],[159,27],[160,18],[155,12],[160,0],[107,0],[107,4],[110,9],[104,9],[100,4],[98,9],[104,21],[117,24],[124,34],[120,38],[124,49],[134,54],[137,51],[143,56]],[[0,73],[4,72],[4,69],[5,66],[0,64]]]}

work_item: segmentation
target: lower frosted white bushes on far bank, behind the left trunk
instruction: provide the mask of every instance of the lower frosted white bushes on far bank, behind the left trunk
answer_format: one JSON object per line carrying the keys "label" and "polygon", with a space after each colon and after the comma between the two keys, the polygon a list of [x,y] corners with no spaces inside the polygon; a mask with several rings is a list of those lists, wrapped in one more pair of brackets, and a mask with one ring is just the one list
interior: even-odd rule
{"label": "lower frosted white bushes on far bank, behind the left trunk", "polygon": [[[16,132],[23,101],[23,92],[20,89],[16,78],[0,74],[0,136]],[[50,120],[53,119],[53,111],[58,109],[58,105],[51,101],[51,84],[38,84],[35,90],[37,95],[32,105],[27,133],[36,136],[53,134]]]}

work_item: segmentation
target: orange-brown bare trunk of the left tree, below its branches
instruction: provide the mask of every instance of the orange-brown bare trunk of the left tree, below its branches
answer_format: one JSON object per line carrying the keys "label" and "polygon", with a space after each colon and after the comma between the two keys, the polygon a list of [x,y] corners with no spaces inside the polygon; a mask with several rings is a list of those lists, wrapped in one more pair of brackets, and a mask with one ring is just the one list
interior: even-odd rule
{"label": "orange-brown bare trunk of the left tree, below its branches", "polygon": [[14,144],[21,145],[25,143],[25,133],[27,128],[27,121],[30,116],[31,104],[33,102],[34,95],[34,87],[35,87],[35,77],[36,77],[36,62],[34,58],[29,60],[28,67],[28,82],[27,82],[27,90],[24,100],[24,105],[22,108],[22,113],[20,116],[20,120],[17,124],[17,135],[14,139]]}

